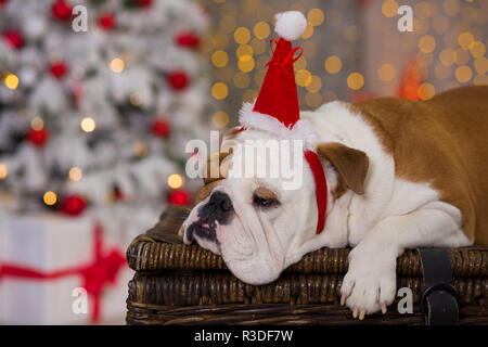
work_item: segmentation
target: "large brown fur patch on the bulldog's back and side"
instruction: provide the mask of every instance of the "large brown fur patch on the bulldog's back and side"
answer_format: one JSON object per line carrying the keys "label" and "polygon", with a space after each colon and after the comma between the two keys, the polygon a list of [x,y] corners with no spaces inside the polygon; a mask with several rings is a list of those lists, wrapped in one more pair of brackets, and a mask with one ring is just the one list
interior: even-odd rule
{"label": "large brown fur patch on the bulldog's back and side", "polygon": [[371,99],[352,111],[374,128],[399,178],[431,183],[461,210],[466,236],[488,245],[488,87],[429,101]]}

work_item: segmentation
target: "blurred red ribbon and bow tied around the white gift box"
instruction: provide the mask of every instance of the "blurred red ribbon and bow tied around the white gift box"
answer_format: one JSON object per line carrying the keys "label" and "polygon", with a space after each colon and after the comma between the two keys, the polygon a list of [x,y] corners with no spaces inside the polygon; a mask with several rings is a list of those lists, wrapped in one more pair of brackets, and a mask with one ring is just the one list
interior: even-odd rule
{"label": "blurred red ribbon and bow tied around the white gift box", "polygon": [[0,280],[4,277],[30,279],[39,281],[56,280],[67,275],[80,275],[81,286],[92,298],[91,321],[100,319],[101,295],[108,284],[115,284],[120,268],[127,264],[126,258],[117,248],[103,252],[102,227],[97,223],[93,230],[93,261],[86,266],[67,268],[52,272],[42,272],[28,267],[12,264],[0,265]]}

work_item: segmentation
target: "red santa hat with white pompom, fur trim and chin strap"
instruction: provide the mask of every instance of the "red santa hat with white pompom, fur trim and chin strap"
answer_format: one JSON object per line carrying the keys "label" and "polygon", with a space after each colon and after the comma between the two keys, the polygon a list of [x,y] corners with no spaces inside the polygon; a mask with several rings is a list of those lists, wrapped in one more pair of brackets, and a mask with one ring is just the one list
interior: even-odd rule
{"label": "red santa hat with white pompom, fur trim and chin strap", "polygon": [[323,230],[326,211],[326,181],[322,164],[314,152],[314,134],[307,123],[300,119],[298,94],[293,63],[301,55],[301,48],[292,49],[293,40],[307,29],[307,20],[298,11],[277,14],[274,31],[280,39],[271,40],[275,48],[273,56],[266,65],[268,72],[254,104],[245,103],[240,112],[243,129],[267,131],[281,139],[303,140],[305,158],[316,181],[318,207],[317,233]]}

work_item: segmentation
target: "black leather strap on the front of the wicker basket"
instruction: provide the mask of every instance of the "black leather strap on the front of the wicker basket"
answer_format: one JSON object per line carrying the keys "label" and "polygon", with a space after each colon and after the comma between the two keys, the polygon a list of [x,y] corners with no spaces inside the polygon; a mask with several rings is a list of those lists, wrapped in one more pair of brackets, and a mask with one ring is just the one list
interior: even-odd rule
{"label": "black leather strap on the front of the wicker basket", "polygon": [[421,299],[424,325],[459,323],[459,295],[452,281],[449,253],[441,248],[419,248],[424,274]]}

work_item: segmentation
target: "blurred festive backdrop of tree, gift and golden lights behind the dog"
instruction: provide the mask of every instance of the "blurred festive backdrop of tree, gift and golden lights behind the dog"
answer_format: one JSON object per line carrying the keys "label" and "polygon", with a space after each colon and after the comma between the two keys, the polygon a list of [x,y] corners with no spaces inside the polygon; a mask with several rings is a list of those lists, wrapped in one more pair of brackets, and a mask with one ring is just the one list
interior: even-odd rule
{"label": "blurred festive backdrop of tree, gift and golden lights behind the dog", "polygon": [[124,323],[127,245],[191,204],[185,144],[237,124],[287,10],[303,110],[488,85],[488,0],[0,0],[1,323]]}

